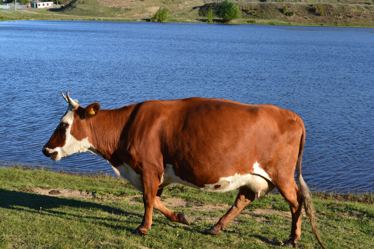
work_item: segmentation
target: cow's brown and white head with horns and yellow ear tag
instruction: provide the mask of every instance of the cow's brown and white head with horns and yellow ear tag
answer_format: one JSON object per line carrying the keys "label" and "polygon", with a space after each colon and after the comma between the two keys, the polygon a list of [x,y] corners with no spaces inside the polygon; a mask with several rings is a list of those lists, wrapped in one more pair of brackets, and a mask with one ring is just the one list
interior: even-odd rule
{"label": "cow's brown and white head with horns and yellow ear tag", "polygon": [[60,160],[62,157],[95,149],[91,142],[89,119],[96,116],[100,110],[99,103],[92,103],[86,108],[79,106],[77,100],[71,99],[69,91],[62,96],[69,103],[68,110],[60,119],[55,132],[48,143],[43,147],[43,154],[53,160]]}

